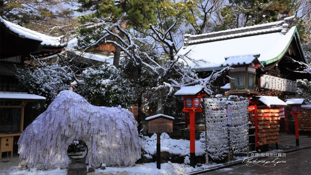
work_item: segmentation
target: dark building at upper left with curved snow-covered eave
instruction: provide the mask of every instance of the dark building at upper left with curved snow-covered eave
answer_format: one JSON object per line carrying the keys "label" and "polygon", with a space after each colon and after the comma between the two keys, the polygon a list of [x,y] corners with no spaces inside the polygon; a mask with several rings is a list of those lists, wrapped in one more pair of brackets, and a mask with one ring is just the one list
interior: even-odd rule
{"label": "dark building at upper left with curved snow-covered eave", "polygon": [[67,46],[62,42],[63,37],[47,36],[2,17],[0,27],[0,91],[14,91],[16,68],[23,69],[26,60],[60,53]]}

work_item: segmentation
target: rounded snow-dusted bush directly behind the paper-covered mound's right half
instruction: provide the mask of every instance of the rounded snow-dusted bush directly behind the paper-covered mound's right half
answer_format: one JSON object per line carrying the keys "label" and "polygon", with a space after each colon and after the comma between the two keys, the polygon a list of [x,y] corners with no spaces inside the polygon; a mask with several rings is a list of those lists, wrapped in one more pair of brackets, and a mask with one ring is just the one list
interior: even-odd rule
{"label": "rounded snow-dusted bush directly behind the paper-covered mound's right half", "polygon": [[82,72],[82,79],[78,88],[91,104],[107,107],[121,105],[123,108],[131,106],[133,90],[130,82],[114,66],[87,68]]}

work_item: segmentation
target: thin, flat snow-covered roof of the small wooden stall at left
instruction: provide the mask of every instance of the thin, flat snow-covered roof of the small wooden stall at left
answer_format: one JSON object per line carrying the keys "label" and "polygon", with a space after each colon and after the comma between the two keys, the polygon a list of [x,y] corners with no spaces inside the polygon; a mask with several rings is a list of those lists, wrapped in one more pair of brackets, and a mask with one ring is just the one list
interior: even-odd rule
{"label": "thin, flat snow-covered roof of the small wooden stall at left", "polygon": [[45,100],[45,97],[27,94],[23,92],[0,92],[1,100],[19,100],[19,101],[40,101]]}

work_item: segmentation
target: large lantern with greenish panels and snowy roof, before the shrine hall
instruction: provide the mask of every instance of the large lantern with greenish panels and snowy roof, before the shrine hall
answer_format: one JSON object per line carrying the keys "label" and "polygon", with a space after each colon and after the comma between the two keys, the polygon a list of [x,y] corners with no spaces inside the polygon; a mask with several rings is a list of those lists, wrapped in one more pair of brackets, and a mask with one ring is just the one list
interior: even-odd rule
{"label": "large lantern with greenish panels and snowy roof, before the shrine hall", "polygon": [[258,60],[260,54],[248,54],[225,57],[222,67],[231,66],[229,76],[231,90],[255,90],[256,69],[263,68]]}

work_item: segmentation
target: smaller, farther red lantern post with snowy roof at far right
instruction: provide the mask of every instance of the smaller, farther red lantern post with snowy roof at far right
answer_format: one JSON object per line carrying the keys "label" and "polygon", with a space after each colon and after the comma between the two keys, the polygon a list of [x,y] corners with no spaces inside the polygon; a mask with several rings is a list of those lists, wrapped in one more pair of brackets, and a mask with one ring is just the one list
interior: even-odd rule
{"label": "smaller, farther red lantern post with snowy roof at far right", "polygon": [[299,147],[299,119],[298,114],[301,113],[301,105],[306,104],[304,99],[287,99],[286,104],[290,106],[290,114],[293,114],[295,117],[295,135],[296,135],[296,146]]}

